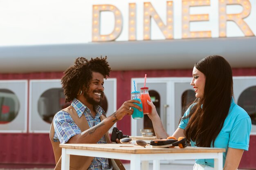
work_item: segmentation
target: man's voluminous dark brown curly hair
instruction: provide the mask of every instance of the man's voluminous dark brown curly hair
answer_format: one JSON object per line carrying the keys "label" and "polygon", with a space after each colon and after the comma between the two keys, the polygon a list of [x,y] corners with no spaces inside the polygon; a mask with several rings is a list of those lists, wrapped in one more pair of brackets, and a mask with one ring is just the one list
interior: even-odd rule
{"label": "man's voluminous dark brown curly hair", "polygon": [[106,57],[96,57],[87,60],[84,57],[76,58],[73,66],[67,68],[61,78],[62,88],[66,96],[65,102],[72,101],[81,90],[88,90],[92,79],[92,72],[101,73],[104,78],[109,77],[111,68]]}

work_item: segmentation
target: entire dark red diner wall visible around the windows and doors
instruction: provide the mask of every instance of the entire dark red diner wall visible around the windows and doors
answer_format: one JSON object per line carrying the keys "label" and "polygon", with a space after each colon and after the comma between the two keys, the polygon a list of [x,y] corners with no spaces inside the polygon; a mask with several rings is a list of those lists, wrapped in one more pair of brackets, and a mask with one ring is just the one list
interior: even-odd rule
{"label": "entire dark red diner wall visible around the windows and doors", "polygon": [[[110,78],[117,78],[117,108],[130,99],[131,78],[192,77],[191,69],[112,71]],[[0,80],[10,79],[61,79],[62,72],[0,74]],[[233,68],[234,76],[255,76],[256,68]],[[108,89],[106,89],[108,90]],[[29,90],[28,90],[29,92]],[[29,101],[28,101],[29,102]],[[28,107],[29,108],[29,107]],[[28,110],[29,112],[29,110]],[[29,114],[29,113],[27,113]],[[130,135],[130,117],[118,121],[117,127]],[[256,136],[250,138],[249,151],[244,152],[240,168],[256,169]],[[0,168],[52,168],[55,165],[49,134],[0,133]]]}

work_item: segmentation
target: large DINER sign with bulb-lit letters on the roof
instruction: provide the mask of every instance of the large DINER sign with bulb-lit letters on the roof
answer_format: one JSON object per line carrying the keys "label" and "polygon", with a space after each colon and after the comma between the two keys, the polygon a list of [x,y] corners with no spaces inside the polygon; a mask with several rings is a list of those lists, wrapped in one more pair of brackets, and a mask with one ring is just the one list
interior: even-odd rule
{"label": "large DINER sign with bulb-lit letters on the roof", "polygon": [[117,2],[92,4],[92,42],[254,36],[250,0]]}

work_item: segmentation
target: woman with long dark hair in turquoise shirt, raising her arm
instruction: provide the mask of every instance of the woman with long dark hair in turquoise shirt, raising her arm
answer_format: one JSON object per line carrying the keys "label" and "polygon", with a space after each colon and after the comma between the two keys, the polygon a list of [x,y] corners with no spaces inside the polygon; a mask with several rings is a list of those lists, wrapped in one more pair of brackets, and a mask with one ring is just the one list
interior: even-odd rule
{"label": "woman with long dark hair in turquoise shirt, raising her arm", "polygon": [[[249,148],[252,123],[246,111],[234,103],[231,66],[221,56],[208,56],[195,63],[192,75],[196,99],[186,110],[173,137],[186,137],[191,146],[225,148],[224,170],[236,170],[243,151]],[[152,102],[148,104],[152,107],[148,117],[157,139],[168,137],[155,106]],[[213,166],[213,159],[197,159],[194,170]]]}

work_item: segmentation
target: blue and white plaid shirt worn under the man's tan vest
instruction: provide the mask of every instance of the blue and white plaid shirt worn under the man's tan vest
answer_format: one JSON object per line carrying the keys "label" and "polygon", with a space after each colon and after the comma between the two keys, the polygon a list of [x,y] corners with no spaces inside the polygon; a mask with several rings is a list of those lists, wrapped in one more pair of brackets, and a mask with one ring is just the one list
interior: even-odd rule
{"label": "blue and white plaid shirt worn under the man's tan vest", "polygon": [[[89,108],[82,104],[78,99],[74,98],[71,105],[76,110],[79,117],[83,114],[91,127],[99,124],[101,122],[100,116],[105,115],[104,110],[100,106],[94,106],[96,111],[96,116],[93,117]],[[74,123],[70,114],[65,111],[59,111],[56,113],[53,119],[54,124],[54,141],[60,141],[61,144],[65,144],[72,136],[80,134],[80,128]],[[98,144],[106,144],[106,138],[103,136],[98,142]],[[88,170],[112,170],[112,166],[109,167],[107,158],[94,157]]]}

